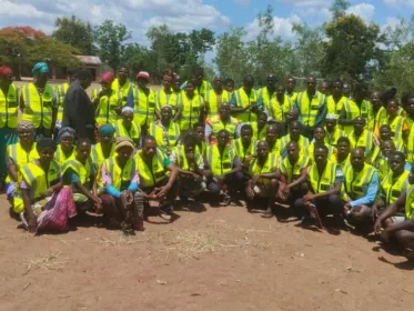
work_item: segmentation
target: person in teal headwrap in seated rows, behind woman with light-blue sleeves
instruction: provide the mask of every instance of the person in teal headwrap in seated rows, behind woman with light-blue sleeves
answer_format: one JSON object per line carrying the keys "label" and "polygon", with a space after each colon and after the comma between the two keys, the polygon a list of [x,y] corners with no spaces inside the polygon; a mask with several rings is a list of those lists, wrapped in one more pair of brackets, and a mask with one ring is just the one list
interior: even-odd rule
{"label": "person in teal headwrap in seated rows, behind woman with light-blue sleeves", "polygon": [[91,152],[91,158],[97,170],[99,170],[104,160],[108,160],[115,153],[114,133],[115,129],[111,124],[104,124],[98,131],[99,142],[92,146]]}

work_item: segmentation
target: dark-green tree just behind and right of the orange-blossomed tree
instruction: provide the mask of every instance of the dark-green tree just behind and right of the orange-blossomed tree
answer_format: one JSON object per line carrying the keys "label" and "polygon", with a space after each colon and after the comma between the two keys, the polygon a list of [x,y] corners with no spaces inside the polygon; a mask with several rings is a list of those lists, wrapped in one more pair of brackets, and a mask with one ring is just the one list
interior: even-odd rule
{"label": "dark-green tree just behind and right of the orange-blossomed tree", "polygon": [[57,29],[52,38],[57,41],[78,48],[82,56],[95,53],[92,27],[89,22],[72,16],[71,18],[57,18],[54,27]]}

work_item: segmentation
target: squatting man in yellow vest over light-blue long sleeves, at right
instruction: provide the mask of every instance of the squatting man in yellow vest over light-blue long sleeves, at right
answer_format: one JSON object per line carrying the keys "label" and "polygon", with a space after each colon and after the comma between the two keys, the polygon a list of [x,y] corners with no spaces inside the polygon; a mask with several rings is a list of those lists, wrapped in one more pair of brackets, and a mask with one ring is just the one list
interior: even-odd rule
{"label": "squatting man in yellow vest over light-blue long sleeves, at right", "polygon": [[351,151],[351,163],[343,169],[345,182],[343,187],[344,210],[347,221],[372,222],[380,178],[377,170],[365,161],[364,149],[357,147]]}

